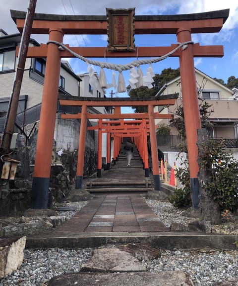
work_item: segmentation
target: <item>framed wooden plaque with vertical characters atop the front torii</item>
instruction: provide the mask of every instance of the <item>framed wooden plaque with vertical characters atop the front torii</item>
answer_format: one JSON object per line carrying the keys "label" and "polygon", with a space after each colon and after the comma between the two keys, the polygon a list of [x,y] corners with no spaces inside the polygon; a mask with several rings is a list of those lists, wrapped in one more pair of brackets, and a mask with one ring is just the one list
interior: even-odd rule
{"label": "framed wooden plaque with vertical characters atop the front torii", "polygon": [[108,51],[135,51],[135,8],[107,9]]}

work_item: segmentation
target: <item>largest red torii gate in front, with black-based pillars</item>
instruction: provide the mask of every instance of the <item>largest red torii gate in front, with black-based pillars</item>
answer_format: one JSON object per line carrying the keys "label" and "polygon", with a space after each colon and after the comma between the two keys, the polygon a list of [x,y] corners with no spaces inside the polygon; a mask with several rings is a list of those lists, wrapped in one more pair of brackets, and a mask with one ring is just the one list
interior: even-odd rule
{"label": "largest red torii gate in front, with black-based pillars", "polygon": [[[18,30],[22,32],[26,12],[11,10],[11,16],[16,22]],[[229,9],[185,15],[135,16],[135,34],[176,34],[178,42],[189,42],[191,41],[192,33],[219,32],[228,16]],[[64,34],[107,34],[107,16],[36,13],[31,32],[33,34],[49,34],[49,41],[59,43],[63,42]],[[71,50],[83,57],[92,58],[159,57],[169,53],[172,49],[173,45],[171,47],[140,47],[139,50],[136,48],[134,52],[108,51],[105,54],[104,47],[71,48]],[[179,56],[192,201],[195,208],[198,207],[199,203],[199,183],[197,179],[198,150],[196,141],[197,129],[201,127],[201,123],[193,57],[222,57],[223,55],[223,46],[200,46],[199,43],[189,44],[185,50],[180,49],[172,55]],[[32,208],[47,208],[60,78],[60,59],[72,57],[72,54],[66,50],[61,51],[57,45],[50,42],[48,45],[42,44],[40,47],[29,47],[27,56],[29,58],[47,57],[31,203]],[[82,114],[86,112],[87,109],[83,108]],[[153,113],[153,110],[150,109],[149,113]],[[49,122],[52,122],[52,125],[49,125]],[[7,132],[13,133],[13,130],[7,130]]]}

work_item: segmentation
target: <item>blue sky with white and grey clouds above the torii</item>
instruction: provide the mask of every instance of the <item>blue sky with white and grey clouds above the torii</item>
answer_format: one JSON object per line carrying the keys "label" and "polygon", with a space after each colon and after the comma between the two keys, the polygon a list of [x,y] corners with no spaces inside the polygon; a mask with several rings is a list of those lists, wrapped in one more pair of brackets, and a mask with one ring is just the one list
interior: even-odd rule
{"label": "blue sky with white and grey clouds above the torii", "polygon": [[[10,17],[10,9],[26,11],[29,0],[0,0],[0,28],[6,33],[17,33],[15,23]],[[129,6],[128,6],[129,4]],[[195,58],[195,67],[210,77],[227,82],[230,76],[238,77],[238,1],[236,0],[37,0],[36,12],[51,14],[106,15],[107,8],[135,7],[136,15],[186,14],[221,9],[230,9],[230,15],[219,33],[193,34],[194,42],[200,45],[224,45],[223,58]],[[32,35],[38,42],[46,42],[47,37]],[[146,44],[145,44],[146,42]],[[64,37],[64,43],[71,46],[107,46],[107,37],[71,35]],[[136,46],[170,46],[177,43],[176,35],[137,35]],[[102,60],[102,59],[99,59]],[[108,62],[114,59],[107,59]],[[128,63],[129,59],[117,59],[117,63]],[[87,66],[78,59],[70,60],[75,73],[86,72]],[[153,64],[155,73],[165,68],[178,68],[178,58],[166,59]],[[99,72],[99,70],[97,70]],[[111,71],[110,71],[111,72]],[[124,76],[126,78],[126,76]],[[109,79],[110,81],[110,79]],[[126,83],[128,84],[128,83]]]}

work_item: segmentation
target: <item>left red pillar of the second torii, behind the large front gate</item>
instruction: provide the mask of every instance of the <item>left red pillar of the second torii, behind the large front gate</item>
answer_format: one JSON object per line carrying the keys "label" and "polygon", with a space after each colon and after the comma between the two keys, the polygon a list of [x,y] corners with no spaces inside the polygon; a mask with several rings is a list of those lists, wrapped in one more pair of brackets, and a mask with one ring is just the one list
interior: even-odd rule
{"label": "left red pillar of the second torii, behind the large front gate", "polygon": [[83,189],[83,166],[84,166],[84,153],[85,153],[85,141],[87,133],[87,112],[88,106],[82,105],[82,116],[79,133],[79,144],[78,144],[78,163],[75,180],[75,189]]}

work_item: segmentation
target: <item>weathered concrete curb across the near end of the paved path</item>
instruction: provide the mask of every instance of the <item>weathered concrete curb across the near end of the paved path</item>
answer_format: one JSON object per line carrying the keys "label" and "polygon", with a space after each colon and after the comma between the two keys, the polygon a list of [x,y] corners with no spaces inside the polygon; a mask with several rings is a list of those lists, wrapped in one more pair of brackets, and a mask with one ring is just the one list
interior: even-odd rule
{"label": "weathered concrete curb across the near end of the paved path", "polygon": [[236,235],[197,232],[42,233],[27,236],[26,249],[87,248],[105,244],[148,243],[162,249],[236,249]]}

